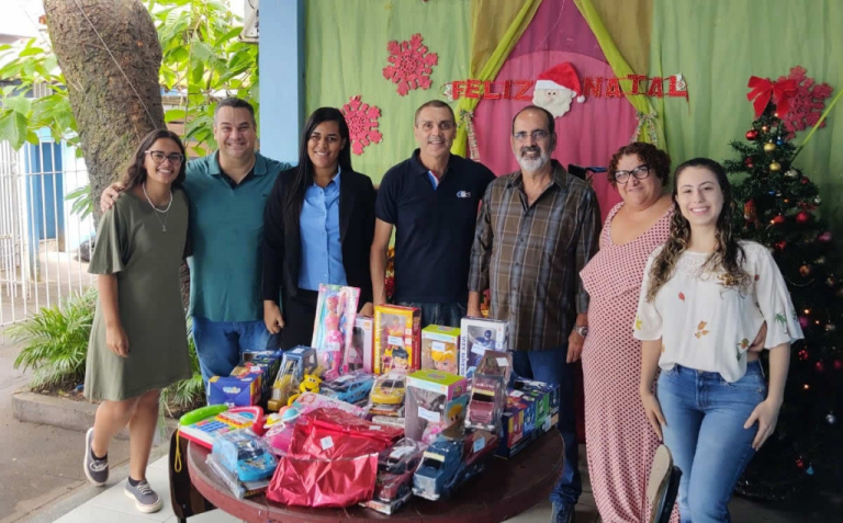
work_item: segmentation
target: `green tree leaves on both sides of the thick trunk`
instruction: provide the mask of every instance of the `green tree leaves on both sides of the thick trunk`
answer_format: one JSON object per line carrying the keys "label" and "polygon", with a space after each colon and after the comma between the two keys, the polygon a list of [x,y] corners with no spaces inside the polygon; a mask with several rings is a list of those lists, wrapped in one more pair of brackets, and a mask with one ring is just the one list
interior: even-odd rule
{"label": "green tree leaves on both sides of the thick trunk", "polygon": [[[178,107],[165,113],[167,123],[183,123],[182,138],[193,155],[216,149],[213,106],[223,96],[238,96],[258,110],[258,47],[239,42],[241,20],[228,10],[228,2],[205,0],[149,0],[147,2],[162,60],[160,83],[179,93]],[[67,95],[65,77],[50,44],[44,38],[26,41],[23,47],[0,45],[0,79],[15,86],[3,88],[0,96],[0,140],[15,149],[37,144],[36,133],[47,128],[55,141],[79,145],[76,118]],[[36,86],[49,94],[34,99]],[[131,95],[127,91],[126,95]],[[81,149],[77,149],[81,154]],[[75,212],[92,209],[89,187],[75,191]]]}

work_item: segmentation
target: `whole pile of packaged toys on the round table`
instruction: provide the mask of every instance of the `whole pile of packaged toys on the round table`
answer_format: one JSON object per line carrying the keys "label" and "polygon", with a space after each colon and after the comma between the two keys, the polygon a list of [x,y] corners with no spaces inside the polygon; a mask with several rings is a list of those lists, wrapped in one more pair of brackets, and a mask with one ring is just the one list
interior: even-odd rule
{"label": "whole pile of packaged toys on the round table", "polygon": [[392,514],[448,499],[557,423],[558,386],[513,375],[507,322],[423,330],[417,308],[360,317],[358,298],[322,285],[313,346],[244,353],[180,421],[238,498]]}

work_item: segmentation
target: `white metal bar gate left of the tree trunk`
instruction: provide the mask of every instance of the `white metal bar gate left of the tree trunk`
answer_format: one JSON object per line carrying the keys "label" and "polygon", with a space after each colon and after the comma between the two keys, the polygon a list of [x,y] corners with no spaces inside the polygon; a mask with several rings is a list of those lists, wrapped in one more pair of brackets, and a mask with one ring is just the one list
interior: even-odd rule
{"label": "white metal bar gate left of the tree trunk", "polygon": [[94,282],[86,261],[93,220],[65,201],[85,185],[85,160],[48,134],[18,151],[0,141],[0,328]]}

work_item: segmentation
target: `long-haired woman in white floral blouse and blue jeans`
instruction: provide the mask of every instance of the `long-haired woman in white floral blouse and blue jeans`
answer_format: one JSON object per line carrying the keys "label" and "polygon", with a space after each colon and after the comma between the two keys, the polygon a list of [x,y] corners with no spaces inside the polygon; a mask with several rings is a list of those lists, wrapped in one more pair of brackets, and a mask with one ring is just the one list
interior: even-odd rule
{"label": "long-haired woman in white floral blouse and blue jeans", "polygon": [[[732,236],[723,168],[686,161],[673,200],[670,238],[647,263],[633,326],[643,351],[639,393],[682,469],[682,521],[728,522],[734,484],[776,427],[790,343],[802,332],[771,253]],[[748,352],[765,321],[769,385]]]}

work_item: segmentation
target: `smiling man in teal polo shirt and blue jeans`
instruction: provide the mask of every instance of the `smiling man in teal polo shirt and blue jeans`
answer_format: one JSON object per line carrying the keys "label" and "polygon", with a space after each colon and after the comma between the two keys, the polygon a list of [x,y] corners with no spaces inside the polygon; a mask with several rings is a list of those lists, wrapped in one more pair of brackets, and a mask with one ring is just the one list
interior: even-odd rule
{"label": "smiling man in teal polo shirt and blue jeans", "polygon": [[[188,163],[190,198],[190,315],[207,388],[227,376],[247,349],[277,349],[263,323],[261,242],[263,207],[278,174],[291,166],[255,151],[255,110],[240,99],[216,104],[214,138],[220,150]],[[103,209],[120,187],[103,192]]]}

